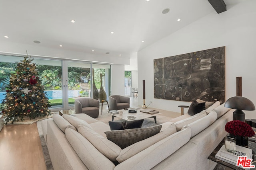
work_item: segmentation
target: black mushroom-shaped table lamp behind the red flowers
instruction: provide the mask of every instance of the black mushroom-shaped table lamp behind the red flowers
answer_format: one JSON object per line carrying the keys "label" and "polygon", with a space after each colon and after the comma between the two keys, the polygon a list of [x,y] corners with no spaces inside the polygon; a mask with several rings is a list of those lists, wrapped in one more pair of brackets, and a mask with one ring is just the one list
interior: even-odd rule
{"label": "black mushroom-shaped table lamp behind the red flowers", "polygon": [[230,109],[236,109],[233,112],[233,120],[240,120],[242,122],[245,122],[245,114],[242,110],[255,110],[252,101],[242,96],[229,98],[224,106]]}

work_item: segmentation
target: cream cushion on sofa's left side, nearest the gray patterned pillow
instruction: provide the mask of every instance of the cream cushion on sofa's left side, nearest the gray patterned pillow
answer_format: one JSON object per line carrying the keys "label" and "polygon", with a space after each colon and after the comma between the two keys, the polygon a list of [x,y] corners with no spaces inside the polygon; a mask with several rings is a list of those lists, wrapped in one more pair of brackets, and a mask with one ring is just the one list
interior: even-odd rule
{"label": "cream cushion on sofa's left side, nearest the gray patterned pillow", "polygon": [[102,137],[85,125],[78,125],[78,132],[83,135],[96,149],[104,154],[111,161],[116,161],[116,157],[122,150],[112,141]]}

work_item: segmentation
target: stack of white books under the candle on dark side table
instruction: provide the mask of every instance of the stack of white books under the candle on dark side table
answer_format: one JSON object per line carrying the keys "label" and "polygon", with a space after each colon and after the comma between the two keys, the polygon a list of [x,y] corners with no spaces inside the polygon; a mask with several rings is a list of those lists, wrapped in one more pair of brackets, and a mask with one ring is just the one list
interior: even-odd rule
{"label": "stack of white books under the candle on dark side table", "polygon": [[237,164],[238,156],[247,156],[248,159],[252,158],[252,149],[236,145],[236,152],[228,152],[225,150],[225,145],[222,145],[220,150],[215,155],[215,158],[228,162],[232,165]]}

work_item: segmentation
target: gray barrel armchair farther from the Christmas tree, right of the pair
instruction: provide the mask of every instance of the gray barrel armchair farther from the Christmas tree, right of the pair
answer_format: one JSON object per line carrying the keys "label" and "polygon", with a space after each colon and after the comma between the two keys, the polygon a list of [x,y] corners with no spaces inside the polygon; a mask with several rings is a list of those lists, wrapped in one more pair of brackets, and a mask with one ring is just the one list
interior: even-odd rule
{"label": "gray barrel armchair farther from the Christmas tree, right of the pair", "polygon": [[109,110],[120,110],[130,108],[130,98],[119,95],[109,96],[108,105]]}

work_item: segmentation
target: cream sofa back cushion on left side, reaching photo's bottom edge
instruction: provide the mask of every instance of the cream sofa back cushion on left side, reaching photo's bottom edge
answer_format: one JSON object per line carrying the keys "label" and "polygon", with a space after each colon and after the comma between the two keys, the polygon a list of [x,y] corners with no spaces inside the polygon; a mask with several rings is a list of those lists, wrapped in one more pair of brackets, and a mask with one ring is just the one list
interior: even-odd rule
{"label": "cream sofa back cushion on left side, reaching photo's bottom edge", "polygon": [[115,168],[113,162],[100,153],[99,150],[77,131],[66,128],[66,138],[88,169],[113,170]]}

